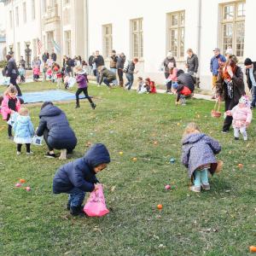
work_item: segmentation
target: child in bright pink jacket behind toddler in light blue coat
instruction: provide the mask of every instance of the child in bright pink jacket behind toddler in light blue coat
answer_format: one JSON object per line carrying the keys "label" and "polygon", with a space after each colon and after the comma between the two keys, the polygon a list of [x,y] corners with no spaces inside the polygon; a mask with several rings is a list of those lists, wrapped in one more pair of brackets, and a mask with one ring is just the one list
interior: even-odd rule
{"label": "child in bright pink jacket behind toddler in light blue coat", "polygon": [[[1,103],[1,113],[3,120],[9,121],[11,114],[20,111],[20,100],[17,98],[17,89],[15,85],[9,85],[8,89],[4,92],[3,102]],[[13,140],[12,125],[8,124],[8,137]]]}

